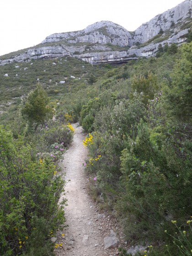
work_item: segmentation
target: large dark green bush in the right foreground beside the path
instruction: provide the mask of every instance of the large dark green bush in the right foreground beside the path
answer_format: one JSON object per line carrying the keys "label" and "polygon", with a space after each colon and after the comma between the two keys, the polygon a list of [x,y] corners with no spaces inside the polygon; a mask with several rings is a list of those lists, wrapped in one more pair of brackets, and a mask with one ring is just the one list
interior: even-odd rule
{"label": "large dark green bush in the right foreground beside the path", "polygon": [[178,146],[168,134],[165,139],[162,130],[149,130],[143,122],[137,138],[128,140],[121,157],[126,192],[118,207],[123,210],[129,239],[145,235],[151,241],[162,239],[168,220],[181,221],[190,215],[192,166],[183,157],[191,153],[182,151],[178,157],[174,150]]}

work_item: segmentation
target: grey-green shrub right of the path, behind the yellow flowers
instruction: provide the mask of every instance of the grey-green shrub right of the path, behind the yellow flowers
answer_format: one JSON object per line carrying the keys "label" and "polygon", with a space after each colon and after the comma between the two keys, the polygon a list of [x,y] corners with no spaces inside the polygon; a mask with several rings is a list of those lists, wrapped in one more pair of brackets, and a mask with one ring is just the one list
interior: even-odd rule
{"label": "grey-green shrub right of the path, behind the yellow flowers", "polygon": [[[103,107],[96,114],[93,133],[93,143],[90,149],[90,160],[86,168],[93,173],[99,181],[98,186],[113,200],[118,179],[120,155],[125,147],[124,140],[127,133],[133,136],[137,123],[144,118],[144,104],[136,96],[133,100],[115,101],[112,107]],[[97,159],[99,157],[99,159]]]}

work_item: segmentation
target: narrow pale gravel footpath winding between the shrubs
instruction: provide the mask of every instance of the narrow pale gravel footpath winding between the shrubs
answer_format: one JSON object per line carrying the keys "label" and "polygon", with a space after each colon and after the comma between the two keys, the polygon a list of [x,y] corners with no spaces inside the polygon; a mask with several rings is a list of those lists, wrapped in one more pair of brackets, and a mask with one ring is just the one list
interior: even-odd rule
{"label": "narrow pale gravel footpath winding between the shrubs", "polygon": [[111,229],[117,233],[118,225],[108,214],[101,214],[87,194],[88,178],[83,166],[87,157],[87,149],[83,145],[85,133],[78,123],[74,128],[74,140],[61,164],[66,172],[66,181],[70,180],[65,187],[68,200],[65,216],[69,227],[63,231],[63,237],[62,232],[58,234],[55,243],[62,243],[63,248],[59,246],[55,252],[57,256],[115,256],[117,248],[104,250],[103,240]]}

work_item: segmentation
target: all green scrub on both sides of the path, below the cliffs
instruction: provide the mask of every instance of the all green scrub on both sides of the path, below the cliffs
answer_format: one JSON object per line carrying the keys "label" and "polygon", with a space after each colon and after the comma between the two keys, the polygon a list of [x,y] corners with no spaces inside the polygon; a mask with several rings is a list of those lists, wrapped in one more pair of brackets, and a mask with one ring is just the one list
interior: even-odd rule
{"label": "all green scrub on both sides of the path, below the cliffs", "polygon": [[66,203],[57,163],[76,121],[90,189],[127,240],[149,245],[143,256],[191,255],[192,43],[167,48],[121,65],[0,66],[0,255],[54,255]]}

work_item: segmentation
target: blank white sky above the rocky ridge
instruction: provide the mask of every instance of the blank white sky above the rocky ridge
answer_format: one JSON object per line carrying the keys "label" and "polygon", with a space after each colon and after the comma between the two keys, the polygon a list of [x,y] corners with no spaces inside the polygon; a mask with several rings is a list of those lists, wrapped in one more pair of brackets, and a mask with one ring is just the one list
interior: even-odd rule
{"label": "blank white sky above the rocky ridge", "polygon": [[113,21],[128,31],[183,0],[0,0],[0,55],[41,43],[53,33]]}

